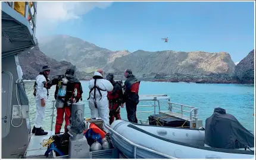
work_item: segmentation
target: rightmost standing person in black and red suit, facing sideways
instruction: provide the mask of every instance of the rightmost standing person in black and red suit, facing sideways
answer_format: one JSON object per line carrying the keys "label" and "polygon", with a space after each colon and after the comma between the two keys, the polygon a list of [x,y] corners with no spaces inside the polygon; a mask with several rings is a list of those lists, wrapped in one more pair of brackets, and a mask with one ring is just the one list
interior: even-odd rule
{"label": "rightmost standing person in black and red suit, facing sideways", "polygon": [[132,74],[132,70],[130,69],[124,71],[124,77],[127,79],[124,82],[125,91],[121,107],[126,103],[127,119],[133,123],[138,123],[136,110],[139,104],[139,84],[141,81]]}

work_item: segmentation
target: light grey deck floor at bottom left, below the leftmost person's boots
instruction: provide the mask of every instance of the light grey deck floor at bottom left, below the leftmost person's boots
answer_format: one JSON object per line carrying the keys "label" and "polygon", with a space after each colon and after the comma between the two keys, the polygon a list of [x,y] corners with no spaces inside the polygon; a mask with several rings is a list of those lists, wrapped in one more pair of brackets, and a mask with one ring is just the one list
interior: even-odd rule
{"label": "light grey deck floor at bottom left, below the leftmost person's boots", "polygon": [[[43,147],[40,143],[43,142],[44,139],[49,139],[52,135],[54,135],[54,131],[45,130],[48,132],[48,135],[44,136],[35,136],[32,134],[29,145],[27,146],[27,151],[24,153],[24,158],[33,158],[33,159],[45,159],[45,152],[47,147]],[[63,131],[61,131],[63,132]]]}

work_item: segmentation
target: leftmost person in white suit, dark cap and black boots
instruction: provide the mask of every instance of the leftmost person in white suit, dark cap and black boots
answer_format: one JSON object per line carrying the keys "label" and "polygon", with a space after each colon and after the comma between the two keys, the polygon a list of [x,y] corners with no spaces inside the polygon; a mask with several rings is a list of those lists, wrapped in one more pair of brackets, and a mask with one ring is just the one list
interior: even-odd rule
{"label": "leftmost person in white suit, dark cap and black boots", "polygon": [[43,117],[45,116],[45,104],[47,98],[49,96],[48,89],[43,82],[49,82],[49,73],[50,68],[48,66],[43,66],[42,72],[36,77],[36,82],[34,85],[34,95],[36,101],[36,118],[35,118],[35,126],[32,129],[32,133],[35,133],[36,136],[47,135],[48,132],[45,132],[42,129]]}

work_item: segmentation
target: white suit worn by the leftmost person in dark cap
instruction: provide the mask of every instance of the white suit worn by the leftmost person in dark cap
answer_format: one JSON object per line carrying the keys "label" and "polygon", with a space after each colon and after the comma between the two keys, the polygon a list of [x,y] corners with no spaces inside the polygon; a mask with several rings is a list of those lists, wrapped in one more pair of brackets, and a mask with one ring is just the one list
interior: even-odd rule
{"label": "white suit worn by the leftmost person in dark cap", "polygon": [[41,106],[41,99],[43,98],[45,100],[45,103],[47,101],[47,89],[43,87],[43,81],[46,82],[46,78],[43,75],[38,75],[36,77],[36,84],[38,86],[36,87],[36,118],[35,118],[35,127],[40,128],[43,124],[43,117],[45,116],[45,107]]}

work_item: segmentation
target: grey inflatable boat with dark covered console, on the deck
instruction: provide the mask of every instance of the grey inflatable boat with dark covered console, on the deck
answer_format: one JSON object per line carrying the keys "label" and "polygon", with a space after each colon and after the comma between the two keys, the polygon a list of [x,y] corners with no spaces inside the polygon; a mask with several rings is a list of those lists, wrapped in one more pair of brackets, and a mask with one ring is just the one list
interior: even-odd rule
{"label": "grey inflatable boat with dark covered console, on the deck", "polygon": [[[222,113],[218,113],[218,110],[214,110],[213,116],[206,120],[205,146],[185,143],[185,140],[182,140],[183,142],[179,142],[178,140],[181,138],[167,139],[157,134],[150,133],[152,132],[152,128],[149,129],[148,127],[148,131],[146,131],[146,127],[144,126],[142,127],[141,125],[132,123],[128,124],[121,120],[115,121],[111,124],[111,140],[113,145],[128,158],[166,158],[161,156],[159,153],[180,159],[254,158],[254,135],[242,127],[236,119],[228,119],[225,117],[230,114],[226,115],[225,113],[224,116],[221,114]],[[216,125],[216,123],[218,125]],[[166,132],[168,131],[166,130]],[[178,134],[179,132],[176,133]],[[214,137],[213,135],[217,137]],[[127,139],[128,141],[124,139]],[[236,142],[241,144],[232,145]],[[136,148],[136,146],[132,144],[151,149],[156,151],[158,154],[146,151],[145,149]],[[222,148],[220,148],[221,145]],[[230,149],[231,146],[233,149]]]}

